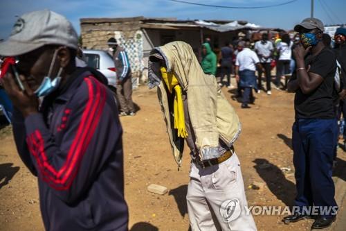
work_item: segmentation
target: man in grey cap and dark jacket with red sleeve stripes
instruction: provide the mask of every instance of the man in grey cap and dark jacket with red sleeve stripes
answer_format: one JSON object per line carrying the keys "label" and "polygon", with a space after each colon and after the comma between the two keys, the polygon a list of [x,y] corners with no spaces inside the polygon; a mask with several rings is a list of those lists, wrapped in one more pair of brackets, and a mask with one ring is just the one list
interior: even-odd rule
{"label": "man in grey cap and dark jacket with red sleeve stripes", "polygon": [[[0,55],[16,57],[24,90],[1,81],[15,106],[21,160],[37,176],[46,230],[127,230],[122,128],[112,93],[75,67],[78,36],[49,10],[17,19]],[[109,139],[111,137],[111,139]]]}

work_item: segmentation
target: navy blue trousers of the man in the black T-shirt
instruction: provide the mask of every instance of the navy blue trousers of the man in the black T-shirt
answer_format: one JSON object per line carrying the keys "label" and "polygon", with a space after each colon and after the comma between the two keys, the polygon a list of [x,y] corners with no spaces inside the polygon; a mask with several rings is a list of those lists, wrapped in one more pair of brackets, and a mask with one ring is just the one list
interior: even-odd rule
{"label": "navy blue trousers of the man in the black T-shirt", "polygon": [[[302,212],[308,206],[337,206],[331,179],[338,124],[336,119],[297,119],[293,124],[293,164],[297,196]],[[321,216],[330,217],[331,214]]]}

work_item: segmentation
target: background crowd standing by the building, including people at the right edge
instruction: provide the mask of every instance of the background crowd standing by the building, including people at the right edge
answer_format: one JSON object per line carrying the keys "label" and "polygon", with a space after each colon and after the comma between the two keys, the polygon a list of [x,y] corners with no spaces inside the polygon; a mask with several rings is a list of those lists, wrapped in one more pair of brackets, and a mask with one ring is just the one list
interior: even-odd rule
{"label": "background crowd standing by the building, including people at the right edge", "polygon": [[[338,58],[338,69],[336,74],[341,76],[345,65],[343,62],[343,50],[345,28],[336,30],[335,37],[330,37],[327,33],[322,33],[321,42],[327,49],[333,51]],[[307,40],[309,38],[302,38]],[[262,90],[271,95],[272,83],[275,89],[287,88],[289,78],[296,68],[296,58],[293,50],[300,45],[300,34],[289,35],[288,33],[277,33],[269,35],[262,33],[260,40],[246,40],[244,33],[239,33],[237,40],[231,44],[226,42],[225,46],[215,49],[212,47],[210,39],[202,46],[201,67],[206,74],[213,74],[219,78],[219,85],[225,85],[224,78],[227,77],[226,87],[228,89],[237,88],[237,96],[242,97],[242,108],[251,108],[248,104],[254,103],[253,92],[260,94]],[[254,51],[254,52],[250,52]],[[257,56],[257,57],[256,57]],[[210,59],[212,57],[212,59]],[[213,72],[210,72],[212,67]],[[244,71],[245,70],[245,71]],[[234,76],[237,87],[233,86],[230,79]],[[262,76],[266,82],[265,88],[262,84]],[[244,93],[243,93],[244,92]],[[346,150],[346,129],[344,114],[345,89],[340,89],[340,99],[336,98],[336,114],[340,125],[340,135],[343,135],[343,149]]]}

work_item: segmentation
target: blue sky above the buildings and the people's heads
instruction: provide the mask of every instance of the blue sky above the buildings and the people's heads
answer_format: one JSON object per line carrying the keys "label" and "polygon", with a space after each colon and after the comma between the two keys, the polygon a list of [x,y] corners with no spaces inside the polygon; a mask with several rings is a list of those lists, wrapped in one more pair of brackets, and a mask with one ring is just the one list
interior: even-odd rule
{"label": "blue sky above the buildings and the people's heads", "polygon": [[[310,16],[311,0],[256,10],[233,10],[190,6],[167,0],[0,0],[0,38],[10,35],[16,15],[49,9],[65,15],[80,33],[83,17],[176,17],[178,19],[242,19],[266,27],[293,28]],[[268,6],[287,0],[186,0],[222,6]],[[325,10],[322,8],[322,3]],[[345,0],[315,0],[315,17],[325,24],[346,24]]]}

